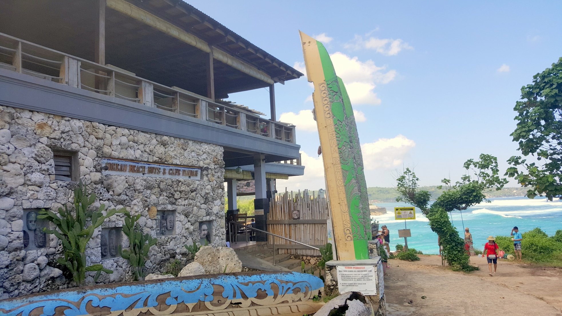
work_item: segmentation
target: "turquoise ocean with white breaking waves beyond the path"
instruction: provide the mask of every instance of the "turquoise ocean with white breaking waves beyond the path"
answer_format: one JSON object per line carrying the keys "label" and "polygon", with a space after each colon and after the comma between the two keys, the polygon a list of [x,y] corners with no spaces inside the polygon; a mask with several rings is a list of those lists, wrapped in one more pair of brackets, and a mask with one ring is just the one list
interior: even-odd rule
{"label": "turquoise ocean with white breaking waves beyond the path", "polygon": [[[394,219],[395,207],[411,206],[406,203],[377,203],[378,207],[387,209],[387,213],[380,216],[371,216],[379,221],[379,227],[387,225],[390,231],[390,247],[395,250],[396,244],[404,244],[404,238],[398,237],[398,230],[404,229],[404,220]],[[540,227],[549,236],[556,230],[562,229],[562,201],[548,201],[537,197],[495,198],[490,203],[470,207],[461,212],[455,210],[452,214],[452,223],[459,231],[459,236],[464,238],[464,227],[470,228],[474,241],[474,248],[482,249],[486,238],[490,235],[509,236],[511,228],[519,227],[520,232]],[[406,226],[411,230],[408,237],[409,248],[423,251],[424,254],[438,254],[437,234],[429,227],[429,221],[422,212],[416,208],[416,219],[406,221]],[[379,228],[380,230],[380,228]]]}

